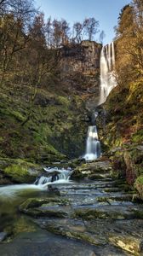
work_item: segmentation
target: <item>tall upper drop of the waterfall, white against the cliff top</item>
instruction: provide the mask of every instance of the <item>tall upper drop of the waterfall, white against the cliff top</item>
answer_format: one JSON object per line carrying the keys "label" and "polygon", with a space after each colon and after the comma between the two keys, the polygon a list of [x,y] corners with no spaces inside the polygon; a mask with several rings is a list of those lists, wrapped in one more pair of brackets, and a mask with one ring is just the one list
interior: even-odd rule
{"label": "tall upper drop of the waterfall, white against the cliff top", "polygon": [[115,50],[114,43],[103,46],[100,53],[100,99],[98,106],[106,102],[107,96],[117,85],[114,77]]}

